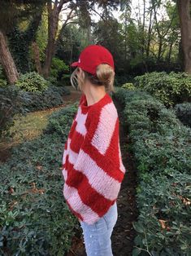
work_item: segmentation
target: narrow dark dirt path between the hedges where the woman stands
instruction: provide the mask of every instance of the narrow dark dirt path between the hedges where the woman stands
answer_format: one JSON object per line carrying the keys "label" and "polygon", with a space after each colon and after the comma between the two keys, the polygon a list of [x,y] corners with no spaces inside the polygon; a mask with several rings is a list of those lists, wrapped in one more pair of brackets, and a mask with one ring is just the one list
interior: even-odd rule
{"label": "narrow dark dirt path between the hedges where the woman stands", "polygon": [[[137,220],[136,205],[137,171],[132,155],[128,153],[128,134],[123,123],[123,108],[117,99],[113,99],[119,114],[119,140],[124,166],[127,170],[117,199],[118,220],[111,236],[114,256],[131,256],[133,240],[136,235],[132,222]],[[76,230],[72,240],[72,248],[67,256],[86,256],[81,231]]]}

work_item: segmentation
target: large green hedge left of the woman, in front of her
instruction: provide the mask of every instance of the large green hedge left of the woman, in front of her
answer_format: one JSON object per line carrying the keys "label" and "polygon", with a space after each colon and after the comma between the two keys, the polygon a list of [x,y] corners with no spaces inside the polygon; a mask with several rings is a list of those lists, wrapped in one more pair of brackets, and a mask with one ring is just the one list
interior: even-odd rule
{"label": "large green hedge left of the woman, in front of her", "polygon": [[[79,225],[63,197],[62,156],[75,113],[54,113],[44,134],[12,148],[1,166],[1,255],[64,255],[71,247]],[[51,134],[55,117],[62,126]]]}

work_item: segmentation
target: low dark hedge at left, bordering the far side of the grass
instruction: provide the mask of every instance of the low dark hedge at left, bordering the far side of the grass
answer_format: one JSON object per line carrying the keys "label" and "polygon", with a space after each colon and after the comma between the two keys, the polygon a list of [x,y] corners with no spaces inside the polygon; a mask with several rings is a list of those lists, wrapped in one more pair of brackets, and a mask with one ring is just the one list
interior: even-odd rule
{"label": "low dark hedge at left, bordering the far side of the grass", "polygon": [[0,87],[0,138],[8,137],[14,121],[22,114],[64,104],[63,95],[70,91],[62,86],[49,86],[42,92],[20,90],[17,86]]}

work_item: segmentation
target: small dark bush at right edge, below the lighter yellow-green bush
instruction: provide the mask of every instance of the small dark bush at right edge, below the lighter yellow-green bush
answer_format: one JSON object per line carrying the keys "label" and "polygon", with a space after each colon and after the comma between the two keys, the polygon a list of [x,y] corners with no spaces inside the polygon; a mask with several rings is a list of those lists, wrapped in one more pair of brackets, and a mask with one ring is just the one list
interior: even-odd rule
{"label": "small dark bush at right edge, below the lighter yellow-green bush", "polygon": [[185,126],[191,127],[191,103],[176,104],[176,116],[183,122]]}

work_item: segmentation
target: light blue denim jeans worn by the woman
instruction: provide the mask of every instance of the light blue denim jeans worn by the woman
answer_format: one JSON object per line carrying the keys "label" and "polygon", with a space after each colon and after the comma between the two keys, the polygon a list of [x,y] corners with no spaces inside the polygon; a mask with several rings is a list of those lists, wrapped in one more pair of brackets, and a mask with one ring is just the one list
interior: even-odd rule
{"label": "light blue denim jeans worn by the woman", "polygon": [[88,224],[80,221],[83,230],[85,251],[87,256],[113,256],[111,234],[118,218],[117,203],[106,212],[96,223]]}

